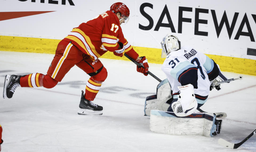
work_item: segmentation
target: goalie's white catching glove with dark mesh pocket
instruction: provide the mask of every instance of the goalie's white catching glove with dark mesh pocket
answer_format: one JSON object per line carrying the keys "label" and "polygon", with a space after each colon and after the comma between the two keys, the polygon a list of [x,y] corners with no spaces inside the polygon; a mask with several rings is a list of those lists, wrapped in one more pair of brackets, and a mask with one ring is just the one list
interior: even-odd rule
{"label": "goalie's white catching glove with dark mesh pocket", "polygon": [[191,84],[178,86],[181,91],[177,102],[173,102],[171,107],[175,115],[185,117],[197,109],[197,100],[195,99],[194,87]]}

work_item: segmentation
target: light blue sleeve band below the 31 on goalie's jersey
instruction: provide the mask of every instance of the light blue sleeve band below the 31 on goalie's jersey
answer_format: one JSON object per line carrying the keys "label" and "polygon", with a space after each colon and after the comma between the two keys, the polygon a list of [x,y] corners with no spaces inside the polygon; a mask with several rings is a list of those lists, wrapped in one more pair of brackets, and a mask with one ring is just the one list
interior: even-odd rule
{"label": "light blue sleeve band below the 31 on goalie's jersey", "polygon": [[171,76],[173,78],[175,78],[176,80],[178,80],[179,75],[183,71],[185,71],[185,70],[187,70],[187,69],[189,69],[191,67],[197,68],[194,64],[191,64],[189,61],[181,62],[179,65],[177,65],[177,67],[175,69],[171,70]]}

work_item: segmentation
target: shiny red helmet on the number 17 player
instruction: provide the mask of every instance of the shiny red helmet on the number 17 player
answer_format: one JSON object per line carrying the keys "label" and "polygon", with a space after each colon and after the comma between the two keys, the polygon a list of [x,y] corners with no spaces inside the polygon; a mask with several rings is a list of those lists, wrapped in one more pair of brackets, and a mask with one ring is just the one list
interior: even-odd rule
{"label": "shiny red helmet on the number 17 player", "polygon": [[117,2],[117,3],[114,3],[113,5],[111,5],[110,11],[112,11],[115,14],[117,12],[120,12],[122,18],[123,18],[123,16],[126,16],[126,18],[128,18],[130,15],[130,10],[128,9],[128,7],[124,3],[121,3],[121,2]]}

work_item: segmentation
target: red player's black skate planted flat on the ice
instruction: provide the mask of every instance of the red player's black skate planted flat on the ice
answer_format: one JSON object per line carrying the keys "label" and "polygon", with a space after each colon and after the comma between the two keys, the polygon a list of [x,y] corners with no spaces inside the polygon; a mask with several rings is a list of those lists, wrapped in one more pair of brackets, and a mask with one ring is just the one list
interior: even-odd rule
{"label": "red player's black skate planted flat on the ice", "polygon": [[79,104],[78,115],[102,115],[103,107],[94,104],[93,102],[85,99],[82,90],[82,96]]}

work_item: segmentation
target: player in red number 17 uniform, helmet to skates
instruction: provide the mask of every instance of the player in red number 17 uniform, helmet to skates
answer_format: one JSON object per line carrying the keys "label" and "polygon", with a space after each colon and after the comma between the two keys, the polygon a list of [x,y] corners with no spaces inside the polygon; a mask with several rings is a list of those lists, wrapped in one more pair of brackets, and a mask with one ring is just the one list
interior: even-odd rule
{"label": "player in red number 17 uniform, helmet to skates", "polygon": [[119,57],[126,53],[143,65],[137,66],[138,72],[148,74],[146,57],[139,57],[123,36],[120,25],[128,22],[129,15],[128,7],[118,2],[114,3],[109,11],[73,28],[69,35],[59,42],[47,74],[6,75],[3,98],[11,98],[18,86],[53,88],[61,82],[71,67],[76,65],[90,75],[85,93],[82,91],[78,114],[102,115],[103,107],[91,102],[107,78],[107,70],[99,57],[107,51]]}

